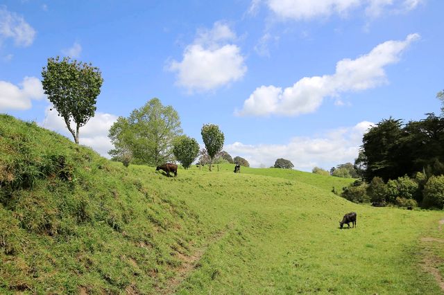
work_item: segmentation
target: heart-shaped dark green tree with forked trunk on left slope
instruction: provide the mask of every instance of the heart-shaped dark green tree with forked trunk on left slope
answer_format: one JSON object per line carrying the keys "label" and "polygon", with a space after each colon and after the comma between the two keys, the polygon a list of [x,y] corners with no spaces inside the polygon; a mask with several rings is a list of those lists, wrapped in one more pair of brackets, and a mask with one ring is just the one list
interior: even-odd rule
{"label": "heart-shaped dark green tree with forked trunk on left slope", "polygon": [[[49,101],[65,120],[76,143],[80,127],[84,126],[96,111],[96,98],[103,83],[99,68],[64,57],[48,59],[42,70],[42,86]],[[74,122],[74,129],[71,127]]]}

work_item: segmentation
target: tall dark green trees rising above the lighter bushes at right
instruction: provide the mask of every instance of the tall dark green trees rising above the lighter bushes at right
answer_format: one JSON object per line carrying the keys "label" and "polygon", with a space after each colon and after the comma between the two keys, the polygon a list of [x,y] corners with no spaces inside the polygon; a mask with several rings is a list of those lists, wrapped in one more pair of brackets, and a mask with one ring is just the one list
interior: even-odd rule
{"label": "tall dark green trees rising above the lighter bushes at right", "polygon": [[362,145],[364,177],[384,181],[404,175],[413,177],[444,174],[444,117],[427,118],[402,125],[401,120],[382,120],[364,134]]}

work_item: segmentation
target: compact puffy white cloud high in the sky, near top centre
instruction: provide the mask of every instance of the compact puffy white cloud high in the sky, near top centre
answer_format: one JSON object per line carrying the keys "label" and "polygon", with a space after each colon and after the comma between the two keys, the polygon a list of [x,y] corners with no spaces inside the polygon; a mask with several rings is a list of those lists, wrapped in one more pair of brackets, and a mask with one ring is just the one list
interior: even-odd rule
{"label": "compact puffy white cloud high in the sky, near top centre", "polygon": [[227,24],[214,23],[211,30],[200,30],[188,45],[181,62],[167,66],[176,72],[176,84],[193,91],[210,91],[241,79],[247,71],[241,49],[230,42],[236,34]]}

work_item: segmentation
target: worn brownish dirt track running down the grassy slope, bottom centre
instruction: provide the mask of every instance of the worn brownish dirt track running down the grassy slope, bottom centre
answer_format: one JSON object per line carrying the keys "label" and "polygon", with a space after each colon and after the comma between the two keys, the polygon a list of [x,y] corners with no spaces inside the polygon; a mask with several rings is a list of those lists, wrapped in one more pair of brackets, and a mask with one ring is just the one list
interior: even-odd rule
{"label": "worn brownish dirt track running down the grassy slope, bottom centre", "polygon": [[198,249],[191,256],[185,256],[183,254],[178,254],[180,260],[182,260],[182,265],[180,265],[176,276],[169,278],[165,283],[165,288],[156,287],[156,294],[174,294],[177,287],[182,283],[193,271],[198,267],[198,262],[202,258],[203,254],[207,251],[210,245],[214,244],[220,240],[229,229],[216,233],[210,238],[210,240],[205,244],[204,247]]}

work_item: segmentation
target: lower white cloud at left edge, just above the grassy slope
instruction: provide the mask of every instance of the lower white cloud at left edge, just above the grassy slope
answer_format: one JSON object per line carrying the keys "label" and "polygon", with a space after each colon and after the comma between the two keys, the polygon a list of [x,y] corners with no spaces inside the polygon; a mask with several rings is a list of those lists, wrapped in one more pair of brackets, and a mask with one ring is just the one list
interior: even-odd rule
{"label": "lower white cloud at left edge, just above the grassy slope", "polygon": [[42,83],[35,77],[25,77],[19,86],[0,81],[0,111],[31,109],[31,100],[44,98]]}

